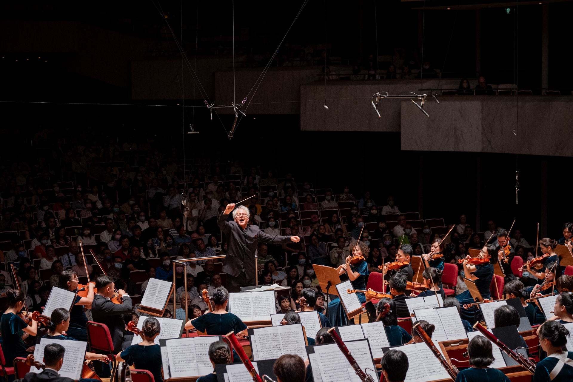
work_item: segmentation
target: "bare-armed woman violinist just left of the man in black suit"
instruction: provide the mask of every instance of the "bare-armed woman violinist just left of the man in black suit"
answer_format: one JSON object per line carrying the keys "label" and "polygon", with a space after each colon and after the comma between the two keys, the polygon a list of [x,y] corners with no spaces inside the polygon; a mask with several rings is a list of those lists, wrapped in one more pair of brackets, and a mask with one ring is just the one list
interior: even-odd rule
{"label": "bare-armed woman violinist just left of the man in black suit", "polygon": [[[77,293],[77,286],[79,283],[80,280],[77,278],[77,274],[74,271],[65,270],[60,275],[58,288]],[[72,307],[72,312],[70,312],[71,318],[67,333],[70,337],[76,338],[78,341],[88,340],[88,333],[85,329],[85,324],[88,323],[88,317],[85,316],[84,307],[91,309],[94,285],[95,284],[93,282],[88,284],[88,293],[86,297],[80,297],[79,294],[76,294],[76,303]]]}

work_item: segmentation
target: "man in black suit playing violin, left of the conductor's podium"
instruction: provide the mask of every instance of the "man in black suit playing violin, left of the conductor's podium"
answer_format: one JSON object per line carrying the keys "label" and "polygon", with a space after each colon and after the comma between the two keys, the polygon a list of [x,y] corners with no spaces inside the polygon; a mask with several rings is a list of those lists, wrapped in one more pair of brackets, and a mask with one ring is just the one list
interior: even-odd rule
{"label": "man in black suit playing violin, left of the conductor's podium", "polygon": [[97,294],[92,302],[93,321],[107,325],[113,341],[113,352],[119,353],[125,328],[125,322],[120,315],[131,312],[131,297],[120,289],[117,293],[123,298],[123,304],[111,302],[109,298],[113,296],[114,285],[113,280],[107,275],[100,275],[96,278],[96,288]]}

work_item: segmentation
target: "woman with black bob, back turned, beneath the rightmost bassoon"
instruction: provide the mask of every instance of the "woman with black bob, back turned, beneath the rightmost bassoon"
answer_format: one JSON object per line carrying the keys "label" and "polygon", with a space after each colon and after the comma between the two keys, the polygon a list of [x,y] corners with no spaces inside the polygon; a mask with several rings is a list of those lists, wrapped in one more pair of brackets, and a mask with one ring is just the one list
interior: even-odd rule
{"label": "woman with black bob, back turned, beneath the rightmost bassoon", "polygon": [[468,344],[470,368],[460,371],[456,382],[510,382],[502,371],[488,368],[494,361],[492,351],[492,342],[487,338],[473,337]]}

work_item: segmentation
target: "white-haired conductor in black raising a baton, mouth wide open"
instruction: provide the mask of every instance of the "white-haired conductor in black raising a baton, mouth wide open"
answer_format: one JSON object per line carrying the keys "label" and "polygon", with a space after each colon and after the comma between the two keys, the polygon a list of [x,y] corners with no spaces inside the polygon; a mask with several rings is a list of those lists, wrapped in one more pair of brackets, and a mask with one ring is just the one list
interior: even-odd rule
{"label": "white-haired conductor in black raising a baton, mouth wide open", "polygon": [[[219,215],[217,224],[226,235],[229,249],[223,261],[223,272],[231,277],[227,277],[227,290],[229,292],[241,292],[241,286],[254,285],[257,265],[254,251],[258,242],[284,244],[288,241],[298,243],[298,236],[276,236],[269,235],[261,231],[258,226],[249,226],[250,212],[245,206],[238,206],[235,209],[234,203],[227,204],[225,211]],[[234,211],[233,211],[234,210]],[[233,211],[232,222],[227,222],[227,216]]]}

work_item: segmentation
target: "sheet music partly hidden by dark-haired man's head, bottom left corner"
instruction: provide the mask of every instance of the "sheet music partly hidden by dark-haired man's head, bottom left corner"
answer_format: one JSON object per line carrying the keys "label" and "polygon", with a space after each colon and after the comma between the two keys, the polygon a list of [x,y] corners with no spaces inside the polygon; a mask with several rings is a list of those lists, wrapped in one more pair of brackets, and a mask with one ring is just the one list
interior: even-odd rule
{"label": "sheet music partly hidden by dark-haired man's head, bottom left corner", "polygon": [[[60,369],[60,376],[68,377],[74,380],[81,379],[81,369],[84,365],[85,348],[88,342],[84,341],[66,341],[66,340],[51,340],[50,338],[42,338],[40,344],[34,348],[34,359],[42,362],[44,358],[44,348],[49,344],[59,344],[64,346],[66,352],[64,353],[64,363]],[[42,369],[30,367],[30,372],[41,373]]]}

